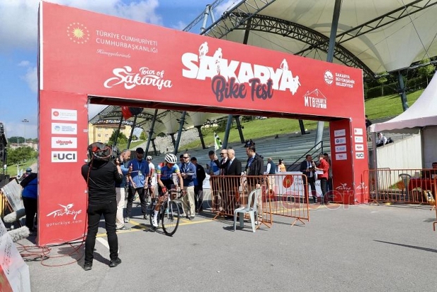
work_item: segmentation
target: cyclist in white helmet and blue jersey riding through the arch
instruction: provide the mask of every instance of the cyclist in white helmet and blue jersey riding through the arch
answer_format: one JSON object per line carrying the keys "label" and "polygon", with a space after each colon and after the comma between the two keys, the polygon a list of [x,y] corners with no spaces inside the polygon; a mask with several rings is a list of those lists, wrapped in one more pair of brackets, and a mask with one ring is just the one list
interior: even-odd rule
{"label": "cyclist in white helmet and blue jersey riding through the arch", "polygon": [[[177,162],[177,157],[175,154],[166,154],[164,166],[159,166],[156,168],[156,176],[158,181],[158,194],[159,199],[156,202],[156,206],[154,209],[152,224],[154,227],[158,227],[158,212],[161,207],[162,202],[164,201],[164,194],[167,193],[167,190],[171,189],[173,185],[177,185],[177,181],[173,181],[173,174],[176,174],[178,177],[178,181],[180,183],[180,189],[183,190],[183,178],[180,176],[180,170]],[[183,190],[185,194],[185,191]]]}

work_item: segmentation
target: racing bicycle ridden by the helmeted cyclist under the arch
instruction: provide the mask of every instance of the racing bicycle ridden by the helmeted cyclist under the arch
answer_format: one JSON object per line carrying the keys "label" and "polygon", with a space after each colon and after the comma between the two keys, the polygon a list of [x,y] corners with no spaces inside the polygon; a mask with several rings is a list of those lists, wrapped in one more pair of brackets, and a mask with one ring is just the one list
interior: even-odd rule
{"label": "racing bicycle ridden by the helmeted cyclist under the arch", "polygon": [[[169,193],[171,195],[169,195]],[[176,194],[179,195],[176,197]],[[171,189],[168,190],[167,193],[164,194],[164,201],[161,204],[161,207],[158,211],[158,216],[156,217],[156,221],[161,221],[162,229],[164,230],[164,233],[168,236],[173,236],[173,234],[176,232],[179,226],[179,219],[180,219],[180,212],[179,212],[179,206],[176,204],[173,197],[176,197],[177,199],[180,199],[180,197],[183,196],[182,190],[176,190]],[[153,220],[153,213],[156,206],[156,203],[158,202],[158,197],[155,197],[152,199],[152,205],[151,205],[151,213],[149,216],[150,219],[150,226],[152,226],[152,229],[156,229],[158,227],[153,226],[152,220]]]}

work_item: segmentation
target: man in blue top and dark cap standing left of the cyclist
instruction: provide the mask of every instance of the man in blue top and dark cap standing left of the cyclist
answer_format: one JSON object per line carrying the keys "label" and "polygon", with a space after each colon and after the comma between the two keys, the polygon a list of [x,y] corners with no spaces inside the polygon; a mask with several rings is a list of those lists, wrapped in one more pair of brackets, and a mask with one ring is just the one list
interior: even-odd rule
{"label": "man in blue top and dark cap standing left of the cyclist", "polygon": [[131,171],[130,177],[132,178],[132,185],[130,185],[128,189],[128,205],[126,206],[125,222],[129,222],[130,220],[135,192],[138,192],[138,197],[140,197],[141,212],[143,218],[147,218],[147,202],[145,199],[145,189],[147,188],[147,181],[149,181],[150,176],[149,163],[143,159],[144,150],[141,147],[138,147],[135,152],[137,154],[137,157],[130,160],[128,164]]}

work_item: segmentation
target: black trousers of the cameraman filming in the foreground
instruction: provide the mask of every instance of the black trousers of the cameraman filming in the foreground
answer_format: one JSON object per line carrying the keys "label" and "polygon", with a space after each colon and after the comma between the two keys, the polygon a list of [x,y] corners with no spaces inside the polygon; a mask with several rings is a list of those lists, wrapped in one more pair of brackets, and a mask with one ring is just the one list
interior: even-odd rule
{"label": "black trousers of the cameraman filming in the foreground", "polygon": [[85,240],[85,264],[92,264],[94,259],[94,245],[96,245],[96,236],[99,229],[101,215],[105,219],[106,235],[109,243],[109,257],[116,260],[118,257],[118,238],[116,233],[116,200],[106,202],[89,202],[88,203],[88,232]]}

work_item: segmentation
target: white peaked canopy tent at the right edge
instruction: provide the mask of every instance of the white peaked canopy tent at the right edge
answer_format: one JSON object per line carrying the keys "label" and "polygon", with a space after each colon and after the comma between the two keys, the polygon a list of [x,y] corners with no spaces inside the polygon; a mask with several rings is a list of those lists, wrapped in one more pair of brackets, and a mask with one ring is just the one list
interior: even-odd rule
{"label": "white peaked canopy tent at the right edge", "polygon": [[414,104],[399,116],[384,123],[374,123],[371,132],[421,134],[421,157],[424,168],[437,162],[437,74]]}

